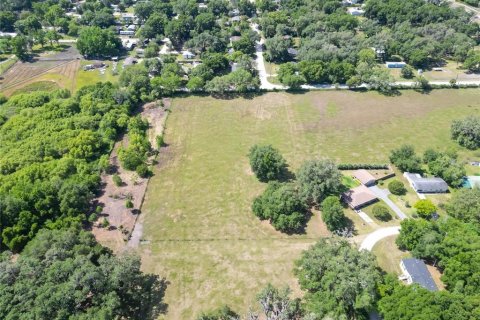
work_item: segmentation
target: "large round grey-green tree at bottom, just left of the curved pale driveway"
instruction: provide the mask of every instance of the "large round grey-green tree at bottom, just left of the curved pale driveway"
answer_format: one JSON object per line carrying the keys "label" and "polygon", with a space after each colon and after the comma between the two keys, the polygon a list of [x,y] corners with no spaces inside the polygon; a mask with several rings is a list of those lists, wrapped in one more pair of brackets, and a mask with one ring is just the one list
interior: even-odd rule
{"label": "large round grey-green tree at bottom, just left of the curved pale driveway", "polygon": [[305,308],[315,319],[366,317],[381,279],[374,255],[337,238],[321,239],[304,251],[295,274],[306,291]]}

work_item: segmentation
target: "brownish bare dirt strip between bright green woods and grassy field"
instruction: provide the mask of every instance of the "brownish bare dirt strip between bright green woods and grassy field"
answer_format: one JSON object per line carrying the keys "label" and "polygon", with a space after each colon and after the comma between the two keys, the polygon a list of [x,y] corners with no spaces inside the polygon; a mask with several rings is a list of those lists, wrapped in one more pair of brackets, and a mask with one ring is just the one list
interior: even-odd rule
{"label": "brownish bare dirt strip between bright green woods and grassy field", "polygon": [[[140,111],[142,118],[146,119],[150,124],[147,134],[154,148],[156,136],[161,135],[163,132],[170,102],[165,99],[161,104],[163,106],[156,102],[148,103],[142,106]],[[140,242],[143,228],[139,225],[134,231],[134,227],[140,214],[149,180],[148,178],[141,178],[135,172],[127,171],[120,166],[118,150],[127,144],[128,137],[125,135],[121,141],[115,144],[110,154],[110,164],[123,183],[121,186],[116,186],[112,179],[113,174],[102,175],[103,190],[102,194],[97,198],[97,202],[103,209],[92,228],[96,239],[114,251],[124,249],[126,241],[129,239],[129,244],[133,247]],[[149,161],[154,161],[154,155],[149,158]],[[127,199],[131,199],[133,202],[132,209],[125,207]],[[107,219],[109,222],[108,228],[101,226],[104,219]]]}

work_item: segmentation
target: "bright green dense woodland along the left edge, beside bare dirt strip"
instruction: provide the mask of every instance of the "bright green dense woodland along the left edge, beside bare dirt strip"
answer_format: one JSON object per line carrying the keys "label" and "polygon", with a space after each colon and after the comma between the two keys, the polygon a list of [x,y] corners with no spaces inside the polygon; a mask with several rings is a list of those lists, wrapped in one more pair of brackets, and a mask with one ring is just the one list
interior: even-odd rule
{"label": "bright green dense woodland along the left edge, beside bare dirt strip", "polygon": [[[114,98],[116,97],[116,98]],[[44,224],[81,221],[132,108],[110,83],[13,96],[0,106],[1,243],[20,250]]]}

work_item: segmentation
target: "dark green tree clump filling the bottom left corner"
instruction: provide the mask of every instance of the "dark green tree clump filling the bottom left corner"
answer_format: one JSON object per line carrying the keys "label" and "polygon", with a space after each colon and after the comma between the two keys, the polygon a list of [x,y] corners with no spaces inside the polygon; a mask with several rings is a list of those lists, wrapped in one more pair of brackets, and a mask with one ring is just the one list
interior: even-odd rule
{"label": "dark green tree clump filling the bottom left corner", "polygon": [[78,229],[42,230],[18,259],[0,256],[2,319],[156,319],[165,287]]}

